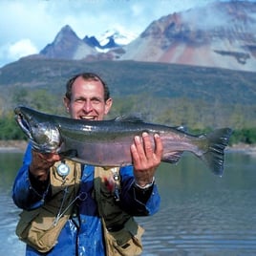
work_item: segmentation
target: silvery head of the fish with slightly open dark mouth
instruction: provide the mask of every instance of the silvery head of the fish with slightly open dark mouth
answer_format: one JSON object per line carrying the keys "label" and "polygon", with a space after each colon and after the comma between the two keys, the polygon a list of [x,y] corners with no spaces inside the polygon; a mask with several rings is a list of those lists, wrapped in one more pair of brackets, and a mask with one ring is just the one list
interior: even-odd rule
{"label": "silvery head of the fish with slightly open dark mouth", "polygon": [[14,110],[15,120],[25,135],[32,141],[32,148],[42,153],[57,152],[60,148],[60,134],[50,115],[27,107]]}

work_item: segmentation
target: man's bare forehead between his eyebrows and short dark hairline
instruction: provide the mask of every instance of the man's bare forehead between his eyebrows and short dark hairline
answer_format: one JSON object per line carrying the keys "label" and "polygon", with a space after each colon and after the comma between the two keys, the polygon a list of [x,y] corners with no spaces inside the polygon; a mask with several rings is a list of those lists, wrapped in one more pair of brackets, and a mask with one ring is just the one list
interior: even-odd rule
{"label": "man's bare forehead between his eyebrows and short dark hairline", "polygon": [[103,84],[100,80],[96,79],[84,79],[79,76],[75,79],[75,82],[72,86],[72,93],[74,95],[83,95],[83,96],[104,96]]}

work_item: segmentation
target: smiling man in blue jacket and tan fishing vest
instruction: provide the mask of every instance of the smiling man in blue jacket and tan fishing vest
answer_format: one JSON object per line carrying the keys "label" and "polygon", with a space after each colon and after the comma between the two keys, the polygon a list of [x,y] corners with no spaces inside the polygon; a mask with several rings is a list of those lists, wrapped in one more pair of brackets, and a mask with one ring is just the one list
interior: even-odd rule
{"label": "smiling man in blue jacket and tan fishing vest", "polygon": [[[98,75],[85,73],[68,81],[64,105],[75,119],[100,121],[110,111],[112,98]],[[21,217],[22,224],[18,226],[22,226],[23,233],[26,230],[26,255],[139,255],[142,231],[132,216],[152,215],[160,206],[154,175],[160,165],[162,143],[158,135],[154,141],[152,145],[146,133],[136,137],[131,145],[133,166],[120,167],[118,171],[80,164],[77,167],[77,163],[73,168],[58,154],[41,154],[29,144],[12,193],[14,203],[25,209],[26,217]],[[77,191],[65,183],[68,175],[61,173],[60,161],[64,173],[67,166],[79,169]],[[74,191],[76,197],[72,197]],[[64,220],[61,217],[69,210],[72,212],[67,215],[68,220],[60,225],[59,220]],[[51,213],[56,217],[48,228]],[[32,226],[24,228],[26,224]],[[53,227],[59,230],[53,231]],[[35,229],[35,233],[43,233],[34,236]],[[40,239],[46,229],[50,231],[44,242],[54,235],[53,245],[41,248],[41,241],[34,240]]]}

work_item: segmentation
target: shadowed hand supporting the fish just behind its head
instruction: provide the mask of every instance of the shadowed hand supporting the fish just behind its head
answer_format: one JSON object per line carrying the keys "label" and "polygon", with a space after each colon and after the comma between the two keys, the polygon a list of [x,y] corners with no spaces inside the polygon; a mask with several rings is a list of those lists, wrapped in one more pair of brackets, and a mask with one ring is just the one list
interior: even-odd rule
{"label": "shadowed hand supporting the fish just behind its head", "polygon": [[47,181],[50,167],[58,160],[61,160],[61,158],[57,154],[42,154],[32,150],[32,162],[30,165],[32,176],[38,181]]}

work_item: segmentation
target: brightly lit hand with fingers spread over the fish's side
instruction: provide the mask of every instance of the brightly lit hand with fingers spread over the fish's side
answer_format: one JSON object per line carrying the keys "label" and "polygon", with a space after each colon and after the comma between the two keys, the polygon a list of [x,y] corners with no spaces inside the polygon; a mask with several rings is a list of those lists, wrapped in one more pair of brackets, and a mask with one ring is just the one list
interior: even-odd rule
{"label": "brightly lit hand with fingers spread over the fish's side", "polygon": [[158,134],[154,135],[155,145],[147,133],[138,136],[131,146],[135,181],[139,186],[145,186],[154,179],[155,171],[160,165],[163,152],[162,143]]}

